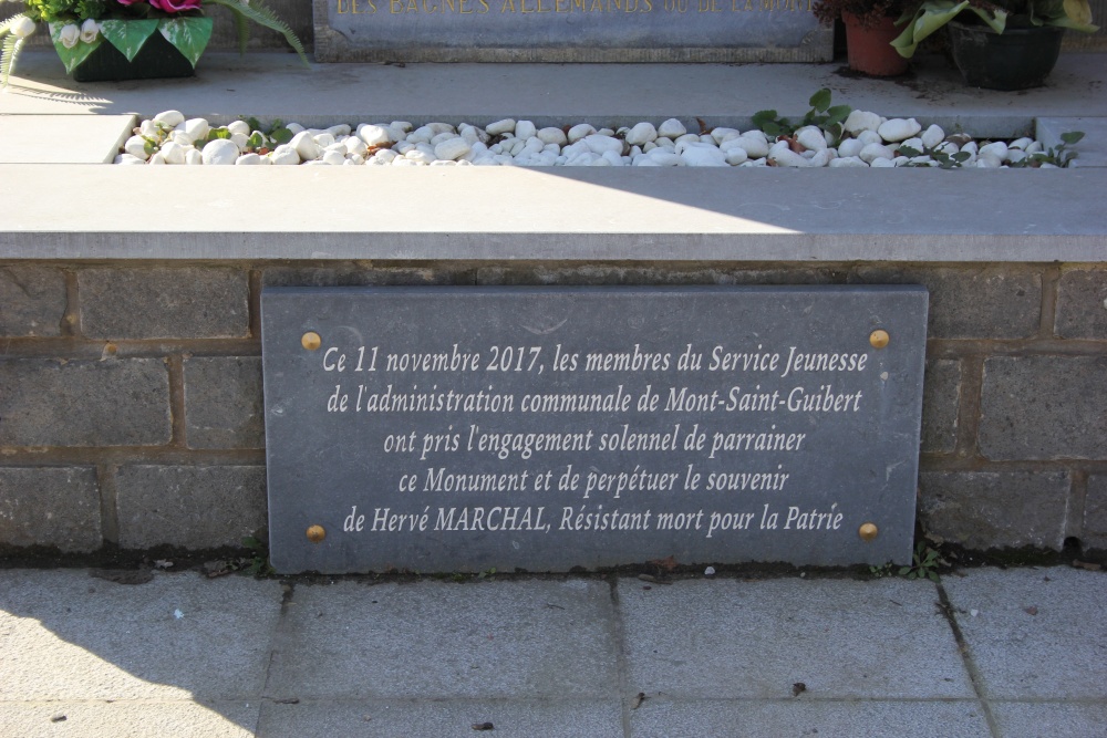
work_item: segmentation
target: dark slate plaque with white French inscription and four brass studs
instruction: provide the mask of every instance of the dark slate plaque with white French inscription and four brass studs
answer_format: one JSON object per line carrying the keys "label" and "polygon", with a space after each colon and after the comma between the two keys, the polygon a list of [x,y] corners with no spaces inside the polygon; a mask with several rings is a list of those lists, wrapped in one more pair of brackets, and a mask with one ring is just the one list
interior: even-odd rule
{"label": "dark slate plaque with white French inscription and four brass studs", "polygon": [[927,300],[921,287],[266,290],[272,563],[906,563]]}

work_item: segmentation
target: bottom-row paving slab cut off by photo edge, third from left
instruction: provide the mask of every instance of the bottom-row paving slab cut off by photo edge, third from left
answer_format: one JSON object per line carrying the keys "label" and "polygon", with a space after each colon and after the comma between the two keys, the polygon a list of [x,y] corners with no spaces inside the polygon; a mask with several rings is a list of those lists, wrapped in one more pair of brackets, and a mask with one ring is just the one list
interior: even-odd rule
{"label": "bottom-row paving slab cut off by photo edge, third from left", "polygon": [[[672,736],[898,736],[990,738],[976,700],[897,701],[646,699],[631,713],[633,738]],[[1075,734],[1073,734],[1075,735]]]}

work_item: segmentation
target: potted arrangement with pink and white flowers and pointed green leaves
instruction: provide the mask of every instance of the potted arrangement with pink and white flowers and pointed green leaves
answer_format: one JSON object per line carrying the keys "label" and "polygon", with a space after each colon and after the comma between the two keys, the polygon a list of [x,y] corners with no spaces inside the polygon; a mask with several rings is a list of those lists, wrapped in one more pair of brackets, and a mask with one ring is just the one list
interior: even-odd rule
{"label": "potted arrangement with pink and white flowers and pointed green leaves", "polygon": [[45,22],[65,71],[79,82],[190,76],[211,38],[204,4],[231,11],[240,49],[249,22],[281,33],[307,63],[303,46],[261,0],[24,0],[0,21],[0,87],[7,86],[24,39]]}

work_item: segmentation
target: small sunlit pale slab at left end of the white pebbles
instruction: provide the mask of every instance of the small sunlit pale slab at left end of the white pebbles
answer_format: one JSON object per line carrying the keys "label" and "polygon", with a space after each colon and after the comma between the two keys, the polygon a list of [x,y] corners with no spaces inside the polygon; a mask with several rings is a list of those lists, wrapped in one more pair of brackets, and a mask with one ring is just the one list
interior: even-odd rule
{"label": "small sunlit pale slab at left end of the white pebbles", "polygon": [[111,164],[131,137],[133,115],[2,115],[0,162]]}

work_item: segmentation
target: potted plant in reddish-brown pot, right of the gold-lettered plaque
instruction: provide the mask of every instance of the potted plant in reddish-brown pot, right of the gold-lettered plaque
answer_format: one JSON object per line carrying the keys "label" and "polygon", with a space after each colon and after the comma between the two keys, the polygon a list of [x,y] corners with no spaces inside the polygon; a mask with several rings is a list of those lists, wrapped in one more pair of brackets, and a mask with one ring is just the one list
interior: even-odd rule
{"label": "potted plant in reddish-brown pot, right of the gold-lettered plaque", "polygon": [[816,0],[811,10],[826,25],[841,18],[851,70],[872,76],[896,76],[906,72],[909,64],[890,45],[899,34],[896,19],[908,9],[908,1]]}

